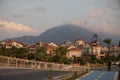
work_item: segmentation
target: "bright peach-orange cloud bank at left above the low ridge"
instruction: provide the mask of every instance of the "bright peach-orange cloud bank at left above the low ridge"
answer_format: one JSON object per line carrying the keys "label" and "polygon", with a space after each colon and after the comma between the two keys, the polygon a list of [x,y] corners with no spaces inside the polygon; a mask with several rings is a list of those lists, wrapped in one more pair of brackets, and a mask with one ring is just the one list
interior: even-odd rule
{"label": "bright peach-orange cloud bank at left above the low ridge", "polygon": [[[23,35],[38,35],[39,32],[34,30],[28,26],[24,26],[22,24],[16,24],[14,22],[7,22],[0,20],[0,37],[6,36],[6,38],[10,37],[18,37]],[[9,35],[9,36],[8,36]]]}

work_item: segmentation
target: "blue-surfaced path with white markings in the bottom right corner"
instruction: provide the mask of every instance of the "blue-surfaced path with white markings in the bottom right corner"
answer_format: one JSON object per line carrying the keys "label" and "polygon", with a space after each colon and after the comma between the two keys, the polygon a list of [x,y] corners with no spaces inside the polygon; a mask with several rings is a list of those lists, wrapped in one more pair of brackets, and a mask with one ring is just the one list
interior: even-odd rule
{"label": "blue-surfaced path with white markings in the bottom right corner", "polygon": [[80,79],[76,80],[117,80],[117,72],[91,71]]}

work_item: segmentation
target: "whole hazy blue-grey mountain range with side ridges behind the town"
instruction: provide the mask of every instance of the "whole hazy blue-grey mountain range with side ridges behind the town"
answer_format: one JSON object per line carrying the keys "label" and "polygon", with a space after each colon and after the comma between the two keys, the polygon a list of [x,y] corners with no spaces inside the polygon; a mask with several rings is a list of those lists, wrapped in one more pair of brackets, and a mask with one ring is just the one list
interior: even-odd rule
{"label": "whole hazy blue-grey mountain range with side ridges behind the town", "polygon": [[112,36],[103,32],[95,33],[80,26],[66,24],[48,29],[47,31],[43,32],[38,36],[22,36],[13,39],[24,43],[43,41],[46,43],[55,42],[57,44],[61,44],[64,41],[73,41],[78,38],[89,42],[91,41],[93,34],[98,34],[101,39],[112,38],[113,44],[117,44],[120,37]]}

